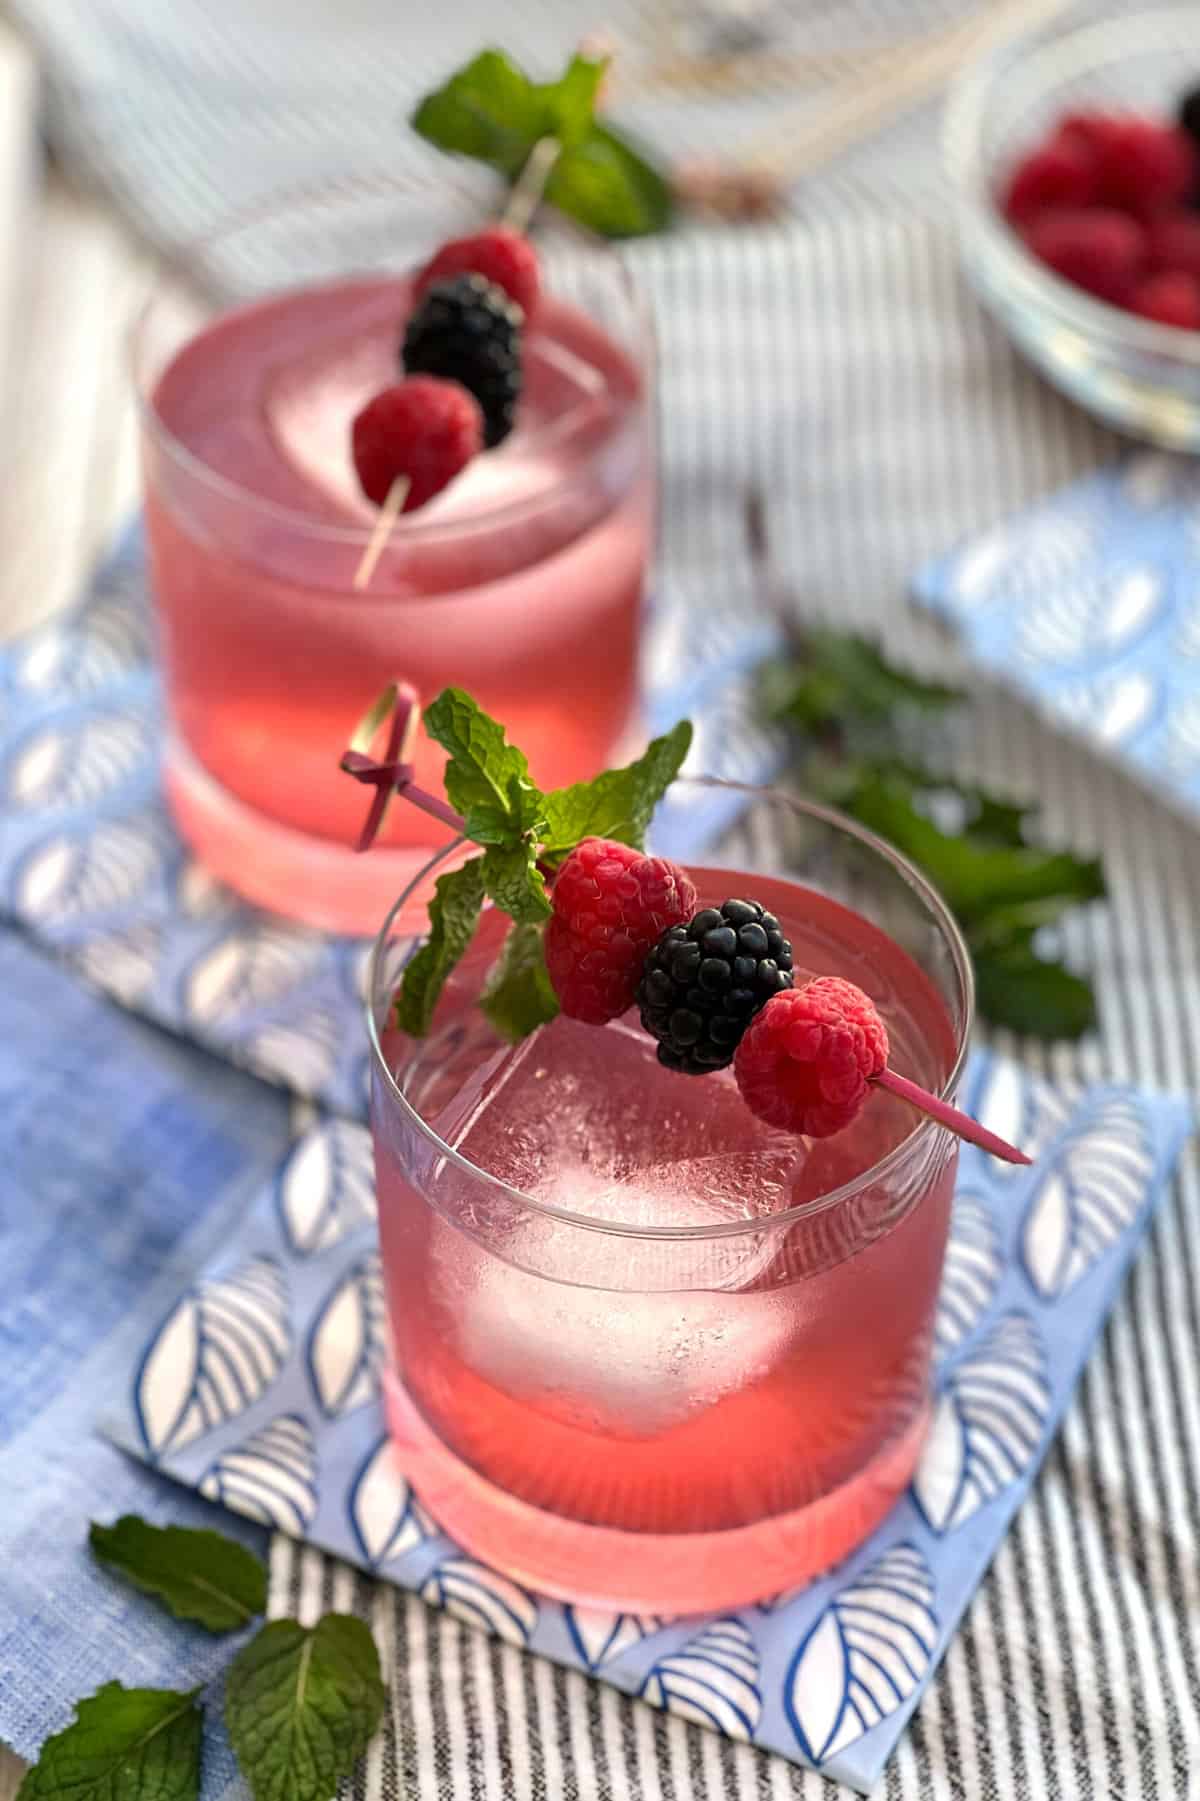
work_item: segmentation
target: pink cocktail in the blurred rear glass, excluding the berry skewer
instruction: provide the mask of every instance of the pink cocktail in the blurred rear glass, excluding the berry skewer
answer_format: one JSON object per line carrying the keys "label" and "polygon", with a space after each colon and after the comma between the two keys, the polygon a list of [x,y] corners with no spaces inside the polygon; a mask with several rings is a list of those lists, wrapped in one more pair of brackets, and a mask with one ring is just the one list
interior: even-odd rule
{"label": "pink cocktail in the blurred rear glass, excluding the berry skewer", "polygon": [[[438,843],[434,821],[395,807],[373,855],[353,855],[366,796],[337,762],[389,681],[423,699],[468,686],[546,785],[596,774],[636,729],[650,376],[625,276],[577,252],[557,292],[551,267],[517,429],[400,520],[355,593],[377,510],[350,423],[398,380],[409,306],[395,274],[186,326],[159,303],[139,349],[175,816],[250,899],[350,931],[375,929]],[[423,735],[414,762],[440,791],[443,753]]]}

